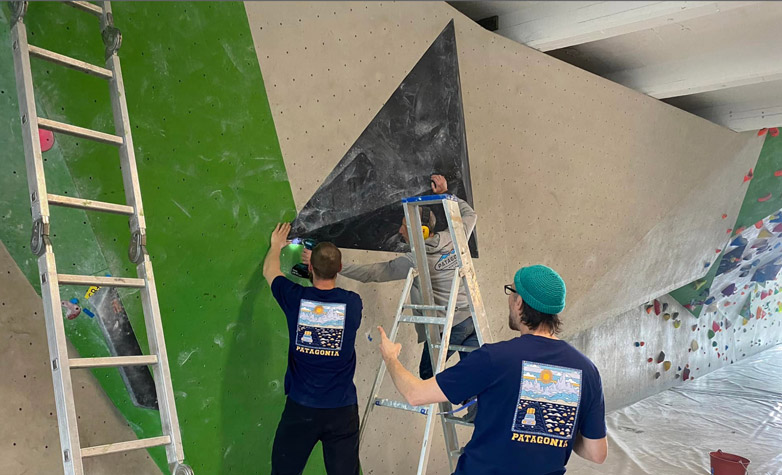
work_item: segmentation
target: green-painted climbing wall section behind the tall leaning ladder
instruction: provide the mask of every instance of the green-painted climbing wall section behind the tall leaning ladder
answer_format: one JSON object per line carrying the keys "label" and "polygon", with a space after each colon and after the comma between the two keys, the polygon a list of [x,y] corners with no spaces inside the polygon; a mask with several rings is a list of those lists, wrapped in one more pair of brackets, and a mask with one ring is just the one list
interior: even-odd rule
{"label": "green-painted climbing wall section behind the tall leaning ladder", "polygon": [[[0,239],[37,286],[5,8],[0,18]],[[231,2],[117,2],[114,17],[123,34],[119,55],[148,249],[187,461],[196,473],[268,472],[284,402],[287,334],[260,264],[273,224],[293,219],[295,209],[244,8]],[[94,17],[58,3],[32,3],[26,23],[32,44],[102,64]],[[35,59],[33,75],[40,116],[113,131],[104,82]],[[121,202],[116,149],[55,134],[43,158],[51,193]],[[61,271],[135,276],[127,258],[126,219],[56,208],[52,232]],[[66,302],[73,298],[82,307],[65,322],[69,340],[83,356],[108,356],[98,317],[86,313],[97,314],[87,289],[60,291]],[[138,295],[121,291],[119,298],[146,350]],[[40,313],[26,318],[43,329]],[[45,347],[37,350],[45,357]],[[133,404],[116,370],[92,374],[137,436],[160,434],[157,411]],[[4,399],[6,390],[3,386]],[[23,413],[53,400],[50,390],[26,396],[31,399],[29,405],[20,403]],[[89,400],[77,405],[82,421],[101,417],[90,406]],[[121,437],[89,441],[116,440]],[[5,455],[11,449],[2,450]],[[49,472],[45,467],[56,465],[57,455],[49,454],[55,462],[42,462],[40,470],[32,465],[36,460],[24,463],[36,473]],[[167,471],[161,450],[151,456]],[[322,461],[314,458],[312,466],[308,473],[322,473]]]}

